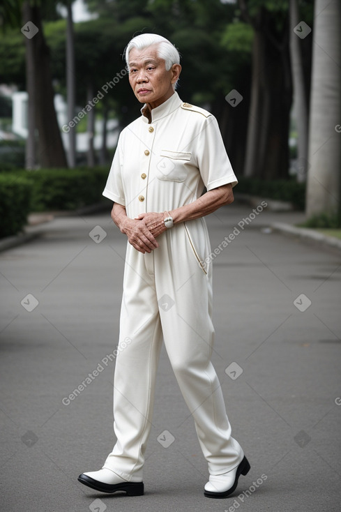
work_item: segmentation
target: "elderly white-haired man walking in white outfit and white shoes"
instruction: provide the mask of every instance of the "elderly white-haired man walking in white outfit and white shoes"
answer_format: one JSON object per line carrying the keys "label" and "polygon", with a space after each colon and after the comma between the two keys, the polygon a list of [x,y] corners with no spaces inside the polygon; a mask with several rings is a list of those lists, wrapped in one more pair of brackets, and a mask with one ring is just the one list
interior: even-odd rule
{"label": "elderly white-haired man walking in white outfit and white shoes", "polygon": [[112,220],[128,237],[114,375],[117,441],[103,468],[78,480],[102,492],[143,494],[163,338],[209,465],[204,495],[222,498],[250,465],[231,435],[211,363],[211,248],[203,217],[233,201],[236,176],[215,118],[175,91],[176,48],[144,33],[130,40],[126,61],[144,107],[119,137],[103,192],[114,201]]}

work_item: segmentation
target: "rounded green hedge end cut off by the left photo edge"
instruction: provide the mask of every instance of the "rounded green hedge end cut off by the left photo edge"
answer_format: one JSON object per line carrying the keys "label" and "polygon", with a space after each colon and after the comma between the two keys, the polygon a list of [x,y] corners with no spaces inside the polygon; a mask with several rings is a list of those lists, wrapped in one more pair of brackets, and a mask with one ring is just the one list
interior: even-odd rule
{"label": "rounded green hedge end cut off by the left photo edge", "polygon": [[0,238],[17,234],[31,209],[31,181],[17,174],[0,174]]}

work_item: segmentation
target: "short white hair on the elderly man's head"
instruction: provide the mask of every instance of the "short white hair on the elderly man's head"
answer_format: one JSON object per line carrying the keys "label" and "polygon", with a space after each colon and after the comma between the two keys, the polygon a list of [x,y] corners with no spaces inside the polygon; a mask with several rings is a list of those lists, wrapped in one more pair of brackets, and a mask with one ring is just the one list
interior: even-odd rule
{"label": "short white hair on the elderly man's head", "polygon": [[172,68],[173,64],[180,63],[179,52],[168,39],[158,36],[157,33],[141,33],[139,36],[132,38],[126,46],[125,56],[127,65],[129,66],[129,52],[132,48],[144,50],[144,48],[151,45],[158,45],[158,57],[164,59],[167,71]]}

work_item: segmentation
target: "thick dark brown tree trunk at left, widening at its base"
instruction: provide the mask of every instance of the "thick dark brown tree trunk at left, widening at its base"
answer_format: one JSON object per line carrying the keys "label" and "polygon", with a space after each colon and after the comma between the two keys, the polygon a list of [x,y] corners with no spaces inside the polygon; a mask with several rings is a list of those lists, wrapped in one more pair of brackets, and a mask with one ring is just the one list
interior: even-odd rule
{"label": "thick dark brown tree trunk at left, widening at its base", "polygon": [[[36,128],[39,134],[38,160],[42,167],[67,167],[65,151],[61,141],[61,132],[54,110],[54,91],[50,73],[50,52],[45,42],[40,10],[26,1],[23,6],[24,24],[32,22],[38,33],[26,43],[30,45],[29,54],[32,63],[30,73],[33,80],[27,83],[27,91],[36,105]],[[31,122],[31,121],[30,121]]]}

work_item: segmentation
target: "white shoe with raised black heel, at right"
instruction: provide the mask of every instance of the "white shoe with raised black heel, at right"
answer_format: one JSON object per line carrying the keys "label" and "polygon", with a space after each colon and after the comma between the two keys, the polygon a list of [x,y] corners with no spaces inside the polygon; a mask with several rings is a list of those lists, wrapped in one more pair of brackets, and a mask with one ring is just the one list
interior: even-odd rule
{"label": "white shoe with raised black heel, at right", "polygon": [[250,464],[244,456],[241,463],[227,473],[210,475],[209,482],[204,488],[204,495],[208,498],[225,498],[232,494],[238,485],[238,478],[243,474],[248,474]]}

